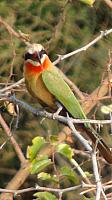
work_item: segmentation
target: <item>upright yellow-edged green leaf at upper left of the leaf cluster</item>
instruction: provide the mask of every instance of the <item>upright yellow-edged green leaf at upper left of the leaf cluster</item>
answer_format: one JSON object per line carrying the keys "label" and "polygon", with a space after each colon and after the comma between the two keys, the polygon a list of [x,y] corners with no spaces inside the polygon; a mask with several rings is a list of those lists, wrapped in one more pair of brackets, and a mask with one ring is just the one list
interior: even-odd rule
{"label": "upright yellow-edged green leaf at upper left of the leaf cluster", "polygon": [[42,148],[42,146],[46,143],[45,139],[43,137],[35,137],[32,140],[32,146],[29,146],[27,148],[27,158],[32,161],[36,158],[37,153]]}

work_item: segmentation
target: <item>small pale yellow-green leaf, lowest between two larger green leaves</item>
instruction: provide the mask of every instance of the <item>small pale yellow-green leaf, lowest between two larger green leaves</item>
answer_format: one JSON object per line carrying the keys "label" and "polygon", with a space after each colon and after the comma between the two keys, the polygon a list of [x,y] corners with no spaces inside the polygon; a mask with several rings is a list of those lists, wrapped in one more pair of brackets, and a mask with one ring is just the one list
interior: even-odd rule
{"label": "small pale yellow-green leaf, lowest between two larger green leaves", "polygon": [[59,179],[56,175],[51,176],[51,174],[41,172],[38,174],[38,179],[41,179],[43,181],[51,181],[51,182],[59,182]]}

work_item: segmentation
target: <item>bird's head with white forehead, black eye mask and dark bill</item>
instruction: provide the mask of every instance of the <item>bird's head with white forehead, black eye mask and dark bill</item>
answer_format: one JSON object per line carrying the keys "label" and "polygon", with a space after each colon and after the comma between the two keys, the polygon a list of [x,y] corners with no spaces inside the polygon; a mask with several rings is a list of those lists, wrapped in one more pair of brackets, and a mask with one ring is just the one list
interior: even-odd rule
{"label": "bird's head with white forehead, black eye mask and dark bill", "polygon": [[35,67],[43,65],[47,57],[46,51],[41,44],[30,44],[25,52],[25,64],[30,63]]}

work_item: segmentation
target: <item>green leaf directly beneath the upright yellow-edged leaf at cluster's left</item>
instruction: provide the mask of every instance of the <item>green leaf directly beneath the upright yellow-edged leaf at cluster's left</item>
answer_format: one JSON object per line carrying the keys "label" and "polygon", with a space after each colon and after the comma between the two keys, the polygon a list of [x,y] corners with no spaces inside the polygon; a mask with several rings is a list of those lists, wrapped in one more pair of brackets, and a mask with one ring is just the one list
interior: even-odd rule
{"label": "green leaf directly beneath the upright yellow-edged leaf at cluster's left", "polygon": [[35,174],[43,170],[45,167],[51,164],[51,160],[47,156],[41,156],[38,159],[34,159],[32,162],[31,173]]}

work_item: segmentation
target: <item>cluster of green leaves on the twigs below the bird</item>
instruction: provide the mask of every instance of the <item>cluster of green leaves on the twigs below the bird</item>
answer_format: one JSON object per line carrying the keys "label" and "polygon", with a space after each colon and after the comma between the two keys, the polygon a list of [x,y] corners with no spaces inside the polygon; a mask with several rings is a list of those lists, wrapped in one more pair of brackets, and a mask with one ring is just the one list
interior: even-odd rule
{"label": "cluster of green leaves on the twigs below the bird", "polygon": [[[45,141],[44,138],[36,137],[32,140],[32,145],[28,147],[27,157],[31,163],[31,169],[30,169],[31,174],[36,174],[38,180],[41,180],[44,185],[46,183],[49,183],[51,187],[53,185],[61,186],[64,180],[67,180],[68,184],[70,183],[79,184],[78,174],[74,170],[72,170],[71,167],[63,166],[58,169],[56,167],[54,159],[51,162],[51,159],[49,158],[51,157],[51,155],[49,155],[48,157],[44,155],[44,152],[43,154],[41,153],[42,150],[44,149],[43,143],[45,144],[45,142],[47,143],[47,141]],[[50,148],[52,148],[51,144],[48,145],[50,146]],[[53,144],[53,151],[55,152],[55,154],[59,153],[60,155],[67,158],[69,162],[73,160],[73,155],[74,155],[73,149],[71,149],[70,145],[68,144],[65,143],[58,144],[55,142],[55,144]],[[46,173],[45,171],[46,167],[47,170],[49,170],[49,166],[51,164],[52,164],[52,170],[50,168],[50,171],[52,171],[52,173],[50,173],[50,171],[49,173]],[[46,192],[43,193],[37,192],[34,194],[34,196],[37,196],[40,199],[45,199],[45,200],[50,198],[49,195],[51,194],[50,193],[47,194]],[[54,195],[51,195],[51,199],[54,198],[55,198]]]}

